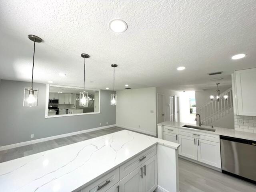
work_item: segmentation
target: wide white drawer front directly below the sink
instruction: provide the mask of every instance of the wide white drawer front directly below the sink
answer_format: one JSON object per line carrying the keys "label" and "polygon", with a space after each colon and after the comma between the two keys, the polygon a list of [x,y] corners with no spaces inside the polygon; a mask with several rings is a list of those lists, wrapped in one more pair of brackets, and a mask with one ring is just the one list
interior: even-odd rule
{"label": "wide white drawer front directly below the sink", "polygon": [[189,136],[193,138],[200,138],[208,141],[214,141],[214,142],[220,142],[220,136],[204,133],[204,132],[198,132],[198,131],[192,131],[192,130],[186,130],[186,129],[179,129],[179,135]]}

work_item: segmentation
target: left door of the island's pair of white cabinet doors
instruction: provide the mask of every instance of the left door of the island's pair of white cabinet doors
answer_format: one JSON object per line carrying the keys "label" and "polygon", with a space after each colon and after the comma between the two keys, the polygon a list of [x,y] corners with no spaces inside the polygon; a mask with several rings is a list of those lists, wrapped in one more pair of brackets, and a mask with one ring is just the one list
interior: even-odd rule
{"label": "left door of the island's pair of white cabinet doors", "polygon": [[143,168],[140,166],[120,180],[120,192],[142,192],[142,177]]}

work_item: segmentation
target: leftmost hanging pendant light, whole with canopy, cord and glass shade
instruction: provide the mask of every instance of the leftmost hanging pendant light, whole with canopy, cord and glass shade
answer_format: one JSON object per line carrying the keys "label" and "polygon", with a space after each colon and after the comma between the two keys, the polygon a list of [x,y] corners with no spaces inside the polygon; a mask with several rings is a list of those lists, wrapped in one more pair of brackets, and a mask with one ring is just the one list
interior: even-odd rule
{"label": "leftmost hanging pendant light, whole with canopy, cord and glass shade", "polygon": [[24,88],[23,106],[24,107],[35,107],[38,102],[38,89],[33,88],[33,77],[34,77],[34,60],[35,60],[35,45],[36,42],[42,42],[42,39],[35,35],[28,35],[28,38],[34,41],[34,53],[33,53],[33,66],[32,66],[32,80],[31,86]]}

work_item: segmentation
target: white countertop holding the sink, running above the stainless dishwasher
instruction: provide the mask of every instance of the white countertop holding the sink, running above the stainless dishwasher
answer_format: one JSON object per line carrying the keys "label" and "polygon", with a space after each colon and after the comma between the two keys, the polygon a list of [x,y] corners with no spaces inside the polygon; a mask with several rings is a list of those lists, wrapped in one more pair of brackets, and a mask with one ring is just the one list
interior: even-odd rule
{"label": "white countertop holding the sink, running above the stainless dishwasher", "polygon": [[[182,129],[186,129],[186,130],[196,130],[198,132],[204,132],[204,133],[210,133],[210,134],[223,135],[223,136],[229,136],[229,137],[234,137],[234,138],[242,138],[242,139],[256,141],[255,133],[236,131],[234,129],[229,129],[229,128],[214,127],[214,129],[216,129],[216,131],[212,132],[212,131],[182,127],[184,125],[194,125],[195,126],[195,124],[182,123],[182,122],[165,121],[162,123],[158,123],[157,125],[177,127],[177,128],[182,128]],[[202,127],[211,128],[211,126],[202,126]]]}

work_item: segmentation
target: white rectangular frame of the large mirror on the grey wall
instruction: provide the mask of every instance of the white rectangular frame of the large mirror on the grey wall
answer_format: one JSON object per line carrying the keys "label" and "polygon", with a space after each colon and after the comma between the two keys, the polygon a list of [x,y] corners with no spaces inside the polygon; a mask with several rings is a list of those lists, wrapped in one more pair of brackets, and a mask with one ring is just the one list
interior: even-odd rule
{"label": "white rectangular frame of the large mirror on the grey wall", "polygon": [[100,114],[100,95],[101,90],[100,89],[91,89],[91,88],[85,88],[86,90],[97,90],[99,91],[99,107],[98,112],[91,112],[91,113],[77,113],[77,114],[63,114],[63,115],[49,115],[48,116],[48,103],[49,103],[49,92],[50,87],[62,87],[62,88],[73,88],[73,89],[84,89],[82,87],[72,87],[72,86],[63,86],[63,85],[52,85],[52,84],[46,84],[46,99],[45,99],[45,115],[44,118],[55,118],[55,117],[66,117],[66,116],[77,116],[77,115],[90,115],[90,114]]}

